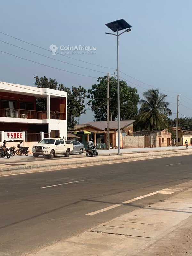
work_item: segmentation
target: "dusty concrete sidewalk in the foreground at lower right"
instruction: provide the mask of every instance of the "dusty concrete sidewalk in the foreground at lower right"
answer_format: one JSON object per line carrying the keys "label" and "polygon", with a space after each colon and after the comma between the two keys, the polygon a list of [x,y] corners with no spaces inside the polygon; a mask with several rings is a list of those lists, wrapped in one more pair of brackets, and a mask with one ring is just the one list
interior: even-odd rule
{"label": "dusty concrete sidewalk in the foreground at lower right", "polygon": [[[191,187],[192,181],[188,181],[157,191],[174,195],[28,256],[192,255]],[[132,204],[137,205],[135,200]]]}

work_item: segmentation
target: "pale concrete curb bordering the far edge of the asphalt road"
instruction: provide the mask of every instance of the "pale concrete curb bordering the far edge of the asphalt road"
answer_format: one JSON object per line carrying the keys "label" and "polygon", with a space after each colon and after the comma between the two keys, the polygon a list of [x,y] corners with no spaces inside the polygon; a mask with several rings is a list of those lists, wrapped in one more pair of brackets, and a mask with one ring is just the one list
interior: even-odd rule
{"label": "pale concrete curb bordering the far edge of the asphalt road", "polygon": [[[183,155],[191,155],[192,151],[183,150],[183,152],[177,151],[159,151],[159,152],[150,152],[150,153],[133,153],[133,154],[123,154],[123,155],[108,155],[108,156],[98,156],[96,158],[74,158],[66,161],[65,159],[56,161],[56,162],[46,162],[46,163],[34,163],[28,162],[27,164],[22,164],[19,166],[3,166],[0,167],[0,176],[6,174],[16,174],[16,173],[27,173],[27,172],[38,172],[38,171],[49,171],[55,169],[67,169],[73,167],[84,167],[84,166],[93,166],[93,165],[101,165],[101,164],[111,164],[118,162],[129,162],[136,160],[145,160],[149,158],[160,158],[160,157],[168,157],[168,156],[183,156]],[[91,159],[91,161],[90,161]],[[45,160],[46,161],[46,160]]]}

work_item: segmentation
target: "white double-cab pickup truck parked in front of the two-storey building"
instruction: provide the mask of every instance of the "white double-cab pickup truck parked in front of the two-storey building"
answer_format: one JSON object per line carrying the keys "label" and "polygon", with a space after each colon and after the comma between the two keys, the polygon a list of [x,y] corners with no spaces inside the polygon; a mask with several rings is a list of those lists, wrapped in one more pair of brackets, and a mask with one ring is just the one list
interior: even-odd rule
{"label": "white double-cab pickup truck parked in front of the two-storey building", "polygon": [[65,140],[60,138],[44,138],[32,148],[34,157],[49,156],[53,158],[56,154],[65,155],[69,157],[70,152],[73,150],[73,144],[66,144]]}

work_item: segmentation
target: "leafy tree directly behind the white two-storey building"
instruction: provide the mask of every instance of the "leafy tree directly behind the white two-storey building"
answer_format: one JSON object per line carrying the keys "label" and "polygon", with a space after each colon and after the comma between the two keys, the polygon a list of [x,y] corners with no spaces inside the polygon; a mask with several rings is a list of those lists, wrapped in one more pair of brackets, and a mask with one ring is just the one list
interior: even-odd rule
{"label": "leafy tree directly behind the white two-storey building", "polygon": [[[50,88],[54,90],[60,90],[67,92],[67,129],[74,128],[77,124],[75,118],[80,117],[81,114],[86,113],[84,110],[84,99],[86,98],[86,89],[82,86],[70,88],[65,87],[63,84],[57,83],[57,81],[47,77],[34,76],[36,79],[35,85],[39,88]],[[39,111],[46,110],[46,99],[36,99],[36,109]]]}

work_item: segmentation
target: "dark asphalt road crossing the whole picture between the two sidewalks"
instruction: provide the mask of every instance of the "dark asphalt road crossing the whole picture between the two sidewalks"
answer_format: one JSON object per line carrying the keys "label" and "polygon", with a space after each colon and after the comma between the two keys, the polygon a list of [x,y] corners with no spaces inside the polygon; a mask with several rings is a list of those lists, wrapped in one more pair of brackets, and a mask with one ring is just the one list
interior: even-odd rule
{"label": "dark asphalt road crossing the whole picture between the two sidewalks", "polygon": [[0,256],[25,255],[163,200],[156,194],[85,215],[188,180],[191,155],[0,177]]}

